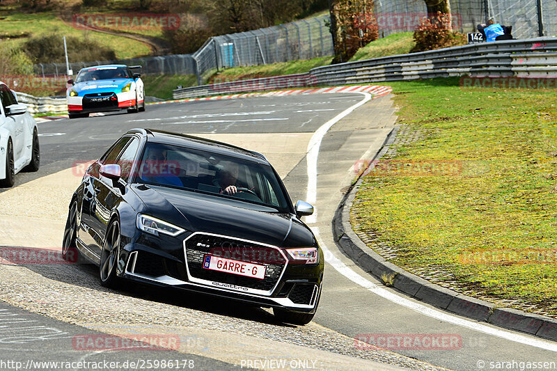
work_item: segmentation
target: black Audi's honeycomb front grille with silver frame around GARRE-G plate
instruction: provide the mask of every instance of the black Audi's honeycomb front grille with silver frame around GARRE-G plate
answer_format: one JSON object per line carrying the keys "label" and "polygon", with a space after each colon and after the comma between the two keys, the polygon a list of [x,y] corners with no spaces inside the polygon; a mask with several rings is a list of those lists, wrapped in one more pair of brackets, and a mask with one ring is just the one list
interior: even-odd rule
{"label": "black Audi's honeycomb front grille with silver frame around GARRE-G plate", "polygon": [[[230,237],[196,234],[185,241],[189,275],[205,281],[270,291],[281,278],[286,264],[278,248],[244,242]],[[205,255],[265,265],[265,278],[252,278],[203,268]]]}

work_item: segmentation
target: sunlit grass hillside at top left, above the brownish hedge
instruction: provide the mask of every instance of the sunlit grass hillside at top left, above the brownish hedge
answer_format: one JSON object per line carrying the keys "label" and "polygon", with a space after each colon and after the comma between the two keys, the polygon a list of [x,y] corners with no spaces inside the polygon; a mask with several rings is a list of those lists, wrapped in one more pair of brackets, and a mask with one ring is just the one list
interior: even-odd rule
{"label": "sunlit grass hillside at top left, above the brownish hedge", "polygon": [[[74,35],[80,38],[88,37],[113,49],[118,59],[134,58],[136,56],[150,54],[150,48],[142,42],[123,38],[121,36],[109,35],[107,33],[74,29],[72,26],[65,24],[53,12],[29,14],[11,13],[10,15],[6,15],[5,19],[1,20],[1,25],[1,32],[9,35],[29,33],[29,36],[32,36],[56,32],[66,36]],[[3,42],[17,47],[22,45],[27,39],[28,37],[11,38]],[[62,41],[61,47],[63,47]]]}

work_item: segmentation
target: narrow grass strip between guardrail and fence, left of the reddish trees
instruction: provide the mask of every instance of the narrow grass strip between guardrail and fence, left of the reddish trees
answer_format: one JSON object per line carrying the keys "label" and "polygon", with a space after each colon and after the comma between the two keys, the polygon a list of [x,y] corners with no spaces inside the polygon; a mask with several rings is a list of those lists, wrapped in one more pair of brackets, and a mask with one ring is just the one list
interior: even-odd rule
{"label": "narrow grass strip between guardrail and fence, left of the reddish trees", "polygon": [[301,61],[274,63],[272,65],[252,65],[249,67],[226,68],[210,78],[210,83],[235,81],[237,79],[255,79],[258,77],[278,76],[281,74],[299,74],[308,72],[321,65],[329,65],[332,57],[324,56]]}

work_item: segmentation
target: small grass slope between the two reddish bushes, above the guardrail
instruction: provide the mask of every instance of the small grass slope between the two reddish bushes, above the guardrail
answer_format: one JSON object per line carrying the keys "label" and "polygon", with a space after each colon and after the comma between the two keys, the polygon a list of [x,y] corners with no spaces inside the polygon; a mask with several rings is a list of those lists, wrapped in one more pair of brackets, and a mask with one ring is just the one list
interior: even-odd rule
{"label": "small grass slope between the two reddish bushes, above the guardrail", "polygon": [[386,38],[372,41],[359,49],[350,61],[407,54],[415,45],[412,35],[412,32],[393,33],[393,35],[389,35]]}

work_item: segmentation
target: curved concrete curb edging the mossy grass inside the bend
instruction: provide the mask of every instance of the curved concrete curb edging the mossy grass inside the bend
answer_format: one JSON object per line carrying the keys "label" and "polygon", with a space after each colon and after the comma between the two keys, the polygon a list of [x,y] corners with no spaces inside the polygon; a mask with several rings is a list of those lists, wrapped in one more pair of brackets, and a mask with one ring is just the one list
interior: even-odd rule
{"label": "curved concrete curb edging the mossy grass inside the bend", "polygon": [[[381,150],[371,161],[375,164],[393,143],[398,126],[387,136]],[[341,251],[366,272],[381,279],[386,274],[393,277],[393,287],[409,297],[436,306],[457,315],[487,322],[505,329],[520,331],[540,338],[557,341],[557,320],[535,315],[513,308],[496,308],[494,303],[459,294],[453,290],[430,283],[385,260],[364,244],[350,225],[350,208],[356,191],[361,186],[360,178],[347,192],[338,205],[333,219],[333,236]]]}

